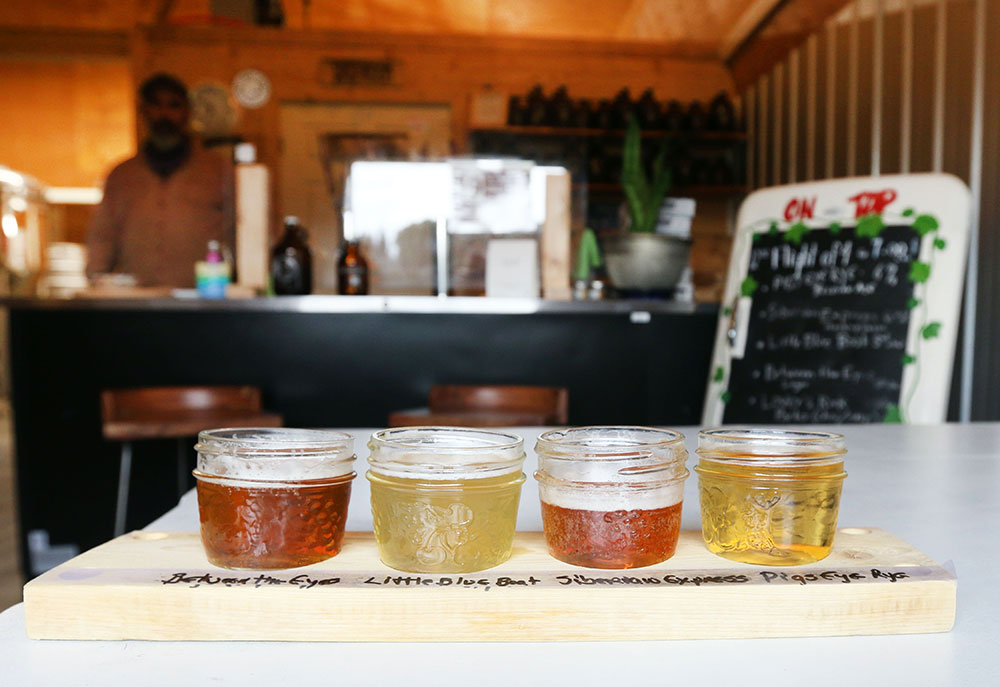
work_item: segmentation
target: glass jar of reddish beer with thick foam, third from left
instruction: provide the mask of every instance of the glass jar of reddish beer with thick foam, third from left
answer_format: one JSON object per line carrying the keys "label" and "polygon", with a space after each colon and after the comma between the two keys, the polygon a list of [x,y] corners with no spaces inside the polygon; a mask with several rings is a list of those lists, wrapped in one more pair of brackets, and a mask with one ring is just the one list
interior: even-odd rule
{"label": "glass jar of reddish beer with thick foam, third from left", "polygon": [[684,435],[652,427],[545,432],[535,446],[549,553],[588,568],[639,568],[674,555],[684,501]]}

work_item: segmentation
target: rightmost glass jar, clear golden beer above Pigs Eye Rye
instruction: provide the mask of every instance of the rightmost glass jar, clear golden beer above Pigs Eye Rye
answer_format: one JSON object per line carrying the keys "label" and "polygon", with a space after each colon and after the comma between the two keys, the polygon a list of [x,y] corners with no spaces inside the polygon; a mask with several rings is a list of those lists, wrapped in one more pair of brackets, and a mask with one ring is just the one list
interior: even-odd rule
{"label": "rightmost glass jar, clear golden beer above Pigs Eye Rye", "polygon": [[701,531],[708,550],[756,565],[826,558],[837,529],[844,437],[784,429],[698,436]]}

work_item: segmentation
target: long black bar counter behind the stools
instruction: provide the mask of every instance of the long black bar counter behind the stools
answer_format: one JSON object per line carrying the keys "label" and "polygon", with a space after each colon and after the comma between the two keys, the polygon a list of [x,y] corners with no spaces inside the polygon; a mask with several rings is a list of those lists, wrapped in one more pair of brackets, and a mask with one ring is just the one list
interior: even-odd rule
{"label": "long black bar counter behind the stools", "polygon": [[[21,532],[82,549],[112,535],[119,454],[101,437],[103,389],[248,384],[288,426],[381,427],[426,405],[432,384],[541,384],[569,389],[574,425],[691,425],[718,312],[406,296],[3,305]],[[136,445],[128,527],[176,503],[173,455],[169,441]]]}

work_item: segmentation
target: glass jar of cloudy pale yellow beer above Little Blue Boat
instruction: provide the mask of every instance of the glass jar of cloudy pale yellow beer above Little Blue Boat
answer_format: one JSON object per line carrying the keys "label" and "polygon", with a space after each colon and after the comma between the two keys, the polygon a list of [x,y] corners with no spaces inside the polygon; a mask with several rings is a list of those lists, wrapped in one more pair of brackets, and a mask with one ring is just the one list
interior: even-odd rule
{"label": "glass jar of cloudy pale yellow beer above Little Blue Boat", "polygon": [[372,517],[379,558],[408,572],[464,573],[510,558],[524,442],[465,427],[375,432]]}

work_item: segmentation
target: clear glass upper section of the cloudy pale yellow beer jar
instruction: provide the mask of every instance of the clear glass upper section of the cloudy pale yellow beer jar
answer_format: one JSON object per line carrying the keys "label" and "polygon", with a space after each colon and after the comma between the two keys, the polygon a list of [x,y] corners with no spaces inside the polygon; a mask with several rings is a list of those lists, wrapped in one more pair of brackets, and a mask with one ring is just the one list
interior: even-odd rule
{"label": "clear glass upper section of the cloudy pale yellow beer jar", "polygon": [[373,473],[421,480],[481,479],[517,474],[524,441],[516,434],[468,427],[399,427],[372,434]]}

